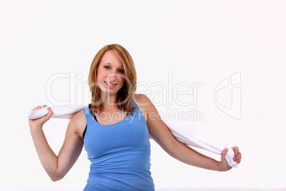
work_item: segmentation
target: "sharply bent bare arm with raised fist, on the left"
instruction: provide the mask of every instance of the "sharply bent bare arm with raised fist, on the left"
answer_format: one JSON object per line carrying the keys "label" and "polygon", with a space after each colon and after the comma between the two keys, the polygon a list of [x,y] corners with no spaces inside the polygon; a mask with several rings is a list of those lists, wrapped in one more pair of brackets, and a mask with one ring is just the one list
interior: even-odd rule
{"label": "sharply bent bare arm with raised fist, on the left", "polygon": [[[43,107],[46,107],[46,105]],[[41,108],[41,106],[34,108],[34,110],[39,108]],[[48,141],[46,140],[46,136],[42,129],[43,124],[46,123],[53,114],[50,108],[48,108],[48,111],[48,115],[43,118],[29,120],[29,125],[38,158],[40,159],[43,168],[51,177],[51,180],[56,181],[63,178],[75,161],[78,160],[78,157],[83,150],[83,139],[80,136],[79,127],[80,125],[85,125],[86,121],[82,118],[80,113],[76,113],[73,118],[71,118],[65,133],[63,146],[57,156],[48,145]]]}

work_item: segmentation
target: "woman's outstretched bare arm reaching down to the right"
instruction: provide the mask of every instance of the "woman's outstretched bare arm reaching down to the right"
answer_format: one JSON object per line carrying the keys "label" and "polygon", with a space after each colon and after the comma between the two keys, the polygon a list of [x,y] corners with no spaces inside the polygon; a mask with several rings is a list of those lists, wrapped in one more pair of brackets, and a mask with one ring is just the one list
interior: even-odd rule
{"label": "woman's outstretched bare arm reaching down to the right", "polygon": [[[226,162],[227,150],[223,150],[221,161],[208,158],[206,155],[198,153],[196,150],[189,148],[189,146],[179,142],[176,140],[176,138],[174,138],[169,128],[167,128],[164,122],[161,120],[157,109],[149,100],[149,98],[147,98],[147,96],[137,96],[137,100],[139,100],[139,103],[147,103],[147,105],[141,106],[139,108],[146,111],[147,113],[147,125],[149,128],[149,134],[161,146],[161,148],[166,151],[166,153],[171,155],[173,158],[180,160],[181,162],[196,167],[203,167],[208,170],[226,171],[231,169],[231,167],[228,166],[228,163]],[[241,154],[239,153],[237,147],[233,148],[233,150],[235,150],[234,160],[239,163]]]}

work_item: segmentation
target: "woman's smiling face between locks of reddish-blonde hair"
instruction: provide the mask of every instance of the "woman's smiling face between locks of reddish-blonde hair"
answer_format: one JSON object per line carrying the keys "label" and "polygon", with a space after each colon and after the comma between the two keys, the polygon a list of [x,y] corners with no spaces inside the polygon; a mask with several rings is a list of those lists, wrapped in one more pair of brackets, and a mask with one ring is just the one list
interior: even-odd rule
{"label": "woman's smiling face between locks of reddish-blonde hair", "polygon": [[125,83],[125,71],[115,51],[106,51],[97,66],[97,83],[102,93],[117,96]]}

